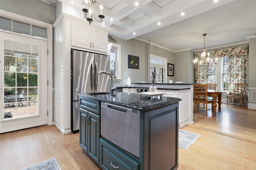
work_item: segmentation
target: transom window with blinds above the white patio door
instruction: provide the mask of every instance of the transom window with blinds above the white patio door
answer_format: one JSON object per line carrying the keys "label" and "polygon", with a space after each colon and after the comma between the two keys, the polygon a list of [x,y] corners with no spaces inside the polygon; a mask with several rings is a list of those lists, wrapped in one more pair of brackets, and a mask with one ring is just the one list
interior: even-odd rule
{"label": "transom window with blinds above the white patio door", "polygon": [[0,16],[0,29],[47,39],[47,28]]}

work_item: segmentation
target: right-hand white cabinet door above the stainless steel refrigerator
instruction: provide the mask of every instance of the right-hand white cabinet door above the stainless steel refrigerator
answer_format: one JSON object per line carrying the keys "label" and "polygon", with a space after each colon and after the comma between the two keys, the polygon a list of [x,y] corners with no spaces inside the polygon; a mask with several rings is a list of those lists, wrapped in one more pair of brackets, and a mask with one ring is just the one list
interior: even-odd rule
{"label": "right-hand white cabinet door above the stainless steel refrigerator", "polygon": [[92,27],[92,50],[108,52],[108,33]]}

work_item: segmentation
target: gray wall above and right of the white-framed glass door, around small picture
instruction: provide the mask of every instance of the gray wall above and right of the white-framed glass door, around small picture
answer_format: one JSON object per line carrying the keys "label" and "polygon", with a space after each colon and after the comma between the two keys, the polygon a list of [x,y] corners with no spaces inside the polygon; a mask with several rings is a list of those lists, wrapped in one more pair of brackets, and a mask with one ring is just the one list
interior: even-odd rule
{"label": "gray wall above and right of the white-framed glass door, around small picture", "polygon": [[[174,53],[173,52],[156,47],[154,45],[150,45],[149,51],[150,51],[150,54],[152,54],[152,55],[157,55],[159,57],[166,58],[167,63],[174,64]],[[175,69],[175,65],[174,65],[174,69]],[[167,72],[166,72],[166,74],[167,74]],[[173,82],[175,82],[175,76],[176,76],[175,73],[174,73],[174,76],[167,76],[167,82],[169,83],[169,80],[173,80]]]}

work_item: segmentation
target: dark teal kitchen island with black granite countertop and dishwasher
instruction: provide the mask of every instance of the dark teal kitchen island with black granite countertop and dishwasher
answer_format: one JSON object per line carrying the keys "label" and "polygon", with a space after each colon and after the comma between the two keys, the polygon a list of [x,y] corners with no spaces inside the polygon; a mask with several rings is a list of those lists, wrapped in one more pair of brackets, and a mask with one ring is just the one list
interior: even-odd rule
{"label": "dark teal kitchen island with black granite countertop and dishwasher", "polygon": [[179,98],[117,92],[80,96],[80,146],[102,169],[178,168]]}

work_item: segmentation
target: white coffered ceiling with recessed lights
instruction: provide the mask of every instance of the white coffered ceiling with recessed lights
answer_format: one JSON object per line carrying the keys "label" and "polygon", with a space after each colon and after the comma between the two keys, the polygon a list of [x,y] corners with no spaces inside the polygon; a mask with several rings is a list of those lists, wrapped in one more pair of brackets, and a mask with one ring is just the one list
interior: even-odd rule
{"label": "white coffered ceiling with recessed lights", "polygon": [[[84,8],[84,0],[59,1]],[[140,36],[172,50],[202,48],[203,33],[208,33],[210,47],[245,41],[256,33],[256,0],[97,0],[96,10],[100,4],[110,35],[125,40]]]}

